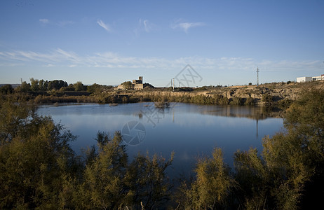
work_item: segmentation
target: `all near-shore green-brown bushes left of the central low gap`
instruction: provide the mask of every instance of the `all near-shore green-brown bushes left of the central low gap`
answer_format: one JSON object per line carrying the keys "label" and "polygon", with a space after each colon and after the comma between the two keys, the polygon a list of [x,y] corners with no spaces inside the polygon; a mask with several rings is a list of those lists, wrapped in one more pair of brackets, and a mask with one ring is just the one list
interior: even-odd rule
{"label": "all near-shore green-brown bushes left of the central low gap", "polygon": [[15,95],[0,101],[1,209],[147,209],[170,195],[173,161],[137,155],[128,162],[120,132],[98,132],[83,161],[69,148],[74,137]]}

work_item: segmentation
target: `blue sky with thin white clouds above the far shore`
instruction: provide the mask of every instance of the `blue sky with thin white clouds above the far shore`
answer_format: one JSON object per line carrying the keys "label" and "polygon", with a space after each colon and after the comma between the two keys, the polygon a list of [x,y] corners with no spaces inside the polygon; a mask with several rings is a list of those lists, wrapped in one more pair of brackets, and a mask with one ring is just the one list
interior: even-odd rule
{"label": "blue sky with thin white clouds above the far shore", "polygon": [[191,86],[255,84],[257,67],[260,83],[319,76],[323,22],[320,0],[1,0],[0,83],[163,87],[187,64]]}

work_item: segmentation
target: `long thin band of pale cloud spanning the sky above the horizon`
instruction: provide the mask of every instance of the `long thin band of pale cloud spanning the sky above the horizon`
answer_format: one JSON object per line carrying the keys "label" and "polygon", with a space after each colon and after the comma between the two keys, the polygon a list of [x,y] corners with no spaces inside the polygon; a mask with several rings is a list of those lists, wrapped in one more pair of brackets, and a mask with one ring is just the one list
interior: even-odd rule
{"label": "long thin band of pale cloud spanning the sky above the horizon", "polygon": [[191,64],[199,69],[210,69],[212,71],[255,71],[257,66],[262,71],[319,71],[322,68],[322,61],[320,60],[258,61],[246,57],[210,58],[198,56],[166,59],[163,57],[125,57],[114,52],[81,56],[75,52],[68,52],[60,48],[47,53],[22,50],[0,52],[0,63],[3,65],[24,65],[30,62],[36,62],[40,66],[48,67],[55,65],[91,68],[104,67],[112,69],[182,69],[186,64]]}

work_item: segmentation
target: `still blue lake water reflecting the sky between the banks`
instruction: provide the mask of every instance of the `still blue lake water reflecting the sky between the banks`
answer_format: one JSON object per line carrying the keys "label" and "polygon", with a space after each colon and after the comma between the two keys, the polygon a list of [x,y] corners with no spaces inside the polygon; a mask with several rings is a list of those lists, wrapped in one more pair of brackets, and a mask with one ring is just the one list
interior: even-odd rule
{"label": "still blue lake water reflecting the sky between the banks", "polygon": [[67,104],[41,106],[39,114],[52,116],[57,123],[77,135],[70,145],[81,153],[81,148],[93,146],[98,131],[113,136],[119,130],[127,144],[130,159],[137,153],[158,153],[168,158],[175,152],[173,173],[191,172],[196,158],[210,155],[220,147],[224,161],[232,167],[233,155],[239,149],[262,150],[262,138],[282,130],[283,119],[276,113],[264,112],[261,107],[206,106],[171,104],[167,109],[156,109],[154,103]]}

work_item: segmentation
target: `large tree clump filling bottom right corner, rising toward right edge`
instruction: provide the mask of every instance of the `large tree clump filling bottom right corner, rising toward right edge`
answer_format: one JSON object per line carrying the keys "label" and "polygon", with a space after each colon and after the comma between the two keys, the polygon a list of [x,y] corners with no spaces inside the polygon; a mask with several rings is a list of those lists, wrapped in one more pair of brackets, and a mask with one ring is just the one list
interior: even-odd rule
{"label": "large tree clump filling bottom right corner, rising toward right edge", "polygon": [[316,208],[324,196],[324,91],[307,90],[286,111],[286,132],[263,139],[263,151],[237,152],[245,209]]}

